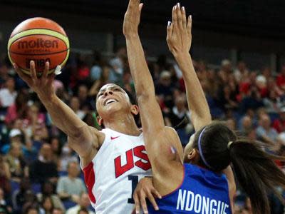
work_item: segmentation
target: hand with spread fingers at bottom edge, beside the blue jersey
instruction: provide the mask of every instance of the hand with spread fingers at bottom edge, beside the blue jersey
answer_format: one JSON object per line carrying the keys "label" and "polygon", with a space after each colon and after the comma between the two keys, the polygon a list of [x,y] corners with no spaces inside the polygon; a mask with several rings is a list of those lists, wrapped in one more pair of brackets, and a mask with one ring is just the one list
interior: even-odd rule
{"label": "hand with spread fingers at bottom edge, beside the blue jersey", "polygon": [[157,190],[155,190],[152,184],[152,178],[142,178],[138,183],[137,188],[135,188],[133,193],[133,199],[135,200],[135,213],[140,213],[140,207],[142,208],[143,213],[148,213],[145,198],[150,200],[150,203],[152,203],[155,210],[159,209],[155,202],[155,198],[161,198],[161,195]]}

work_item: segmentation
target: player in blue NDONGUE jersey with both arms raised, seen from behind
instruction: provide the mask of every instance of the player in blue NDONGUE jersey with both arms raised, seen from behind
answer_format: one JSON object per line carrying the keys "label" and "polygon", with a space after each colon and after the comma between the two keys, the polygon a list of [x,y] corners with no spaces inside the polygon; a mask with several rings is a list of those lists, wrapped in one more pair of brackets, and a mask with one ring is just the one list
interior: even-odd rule
{"label": "player in blue NDONGUE jersey with both arms raised, seen from behind", "polygon": [[[235,193],[229,166],[232,163],[239,183],[252,201],[254,213],[269,214],[266,190],[274,190],[278,185],[285,187],[285,175],[272,161],[276,157],[264,153],[258,143],[239,139],[224,123],[212,122],[189,54],[192,18],[186,19],[185,8],[180,4],[172,9],[167,44],[183,73],[191,120],[197,131],[184,153],[177,132],[165,126],[138,36],[141,10],[139,0],[130,0],[123,32],[140,107],[145,148],[152,164],[152,183],[164,195],[157,200],[159,209],[148,206],[150,213],[232,213]],[[133,196],[136,213],[145,196],[155,204],[151,194]]]}

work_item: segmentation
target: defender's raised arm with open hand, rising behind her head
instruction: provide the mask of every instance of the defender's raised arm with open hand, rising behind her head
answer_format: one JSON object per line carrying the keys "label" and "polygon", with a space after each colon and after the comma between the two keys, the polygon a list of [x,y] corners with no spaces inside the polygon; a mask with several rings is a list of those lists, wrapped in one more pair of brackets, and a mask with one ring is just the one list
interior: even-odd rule
{"label": "defender's raised arm with open hand, rising behind her head", "polygon": [[186,18],[185,7],[177,4],[172,9],[172,23],[167,25],[167,44],[180,67],[185,81],[187,103],[195,131],[211,123],[209,106],[196,75],[189,54],[192,44],[192,16]]}

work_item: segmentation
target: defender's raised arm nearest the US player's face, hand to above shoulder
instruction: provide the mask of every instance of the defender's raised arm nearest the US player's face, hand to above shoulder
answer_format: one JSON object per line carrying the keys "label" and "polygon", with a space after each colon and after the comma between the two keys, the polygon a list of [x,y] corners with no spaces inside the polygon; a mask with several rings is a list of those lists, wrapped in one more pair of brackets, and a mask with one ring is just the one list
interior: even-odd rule
{"label": "defender's raised arm nearest the US player's face, hand to above shoulder", "polygon": [[[135,82],[135,92],[140,106],[140,116],[144,133],[165,128],[160,106],[155,99],[155,86],[145,61],[145,54],[138,35],[142,4],[130,0],[125,13],[123,33],[125,35],[130,73]],[[153,117],[152,117],[153,116]],[[153,121],[156,123],[153,123]]]}

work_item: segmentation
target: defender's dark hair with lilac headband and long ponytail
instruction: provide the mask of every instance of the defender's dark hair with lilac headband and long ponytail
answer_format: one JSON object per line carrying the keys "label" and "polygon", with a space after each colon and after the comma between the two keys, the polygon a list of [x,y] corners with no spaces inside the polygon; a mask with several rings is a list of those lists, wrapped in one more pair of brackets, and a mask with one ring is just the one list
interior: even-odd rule
{"label": "defender's dark hair with lilac headband and long ponytail", "polygon": [[285,174],[274,160],[285,158],[264,152],[264,143],[238,139],[221,122],[202,128],[194,142],[199,151],[199,165],[220,172],[232,163],[237,180],[252,201],[254,214],[270,214],[269,191],[284,202],[276,187],[285,189]]}

